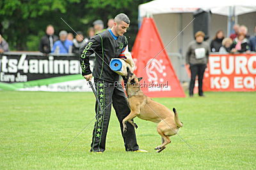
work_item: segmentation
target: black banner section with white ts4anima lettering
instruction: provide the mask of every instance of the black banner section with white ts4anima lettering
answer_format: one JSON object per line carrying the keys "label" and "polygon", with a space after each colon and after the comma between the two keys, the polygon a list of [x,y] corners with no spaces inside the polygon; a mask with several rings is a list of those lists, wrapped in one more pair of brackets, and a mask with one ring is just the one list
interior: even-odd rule
{"label": "black banner section with white ts4anima lettering", "polygon": [[[90,57],[93,66],[94,57]],[[5,52],[0,55],[0,82],[27,82],[81,74],[79,56],[40,52]]]}

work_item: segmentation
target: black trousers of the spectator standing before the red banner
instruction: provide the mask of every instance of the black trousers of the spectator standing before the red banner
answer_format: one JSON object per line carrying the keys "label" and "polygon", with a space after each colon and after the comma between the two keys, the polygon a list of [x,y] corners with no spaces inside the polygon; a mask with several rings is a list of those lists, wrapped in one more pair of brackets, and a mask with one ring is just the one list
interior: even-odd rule
{"label": "black trousers of the spectator standing before the red banner", "polygon": [[189,68],[191,71],[189,95],[193,96],[194,94],[196,75],[198,75],[198,93],[199,93],[198,95],[199,96],[204,95],[202,88],[203,88],[204,71],[205,71],[206,65],[205,64],[190,65]]}

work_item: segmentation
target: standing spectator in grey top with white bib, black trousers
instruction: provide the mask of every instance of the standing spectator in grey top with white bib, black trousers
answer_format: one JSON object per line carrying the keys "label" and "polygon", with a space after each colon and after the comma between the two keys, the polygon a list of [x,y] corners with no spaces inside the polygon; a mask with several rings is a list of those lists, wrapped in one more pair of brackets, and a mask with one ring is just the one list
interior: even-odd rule
{"label": "standing spectator in grey top with white bib, black trousers", "polygon": [[204,71],[207,67],[209,58],[209,44],[204,42],[204,32],[198,31],[195,33],[195,38],[193,42],[189,43],[188,51],[186,52],[186,64],[189,65],[191,71],[191,80],[189,84],[189,97],[194,95],[194,87],[196,75],[198,75],[198,91],[199,96],[204,97],[203,93],[203,78]]}

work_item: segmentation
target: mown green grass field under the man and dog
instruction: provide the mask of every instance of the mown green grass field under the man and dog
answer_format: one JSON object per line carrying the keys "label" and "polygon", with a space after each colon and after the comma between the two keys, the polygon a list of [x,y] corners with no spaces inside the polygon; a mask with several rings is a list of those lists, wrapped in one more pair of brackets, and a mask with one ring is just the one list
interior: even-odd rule
{"label": "mown green grass field under the man and dog", "polygon": [[152,122],[135,119],[138,144],[127,153],[111,113],[106,151],[89,153],[93,93],[0,92],[0,169],[255,169],[256,93],[205,93],[205,98],[155,98],[179,112],[184,127],[161,153]]}

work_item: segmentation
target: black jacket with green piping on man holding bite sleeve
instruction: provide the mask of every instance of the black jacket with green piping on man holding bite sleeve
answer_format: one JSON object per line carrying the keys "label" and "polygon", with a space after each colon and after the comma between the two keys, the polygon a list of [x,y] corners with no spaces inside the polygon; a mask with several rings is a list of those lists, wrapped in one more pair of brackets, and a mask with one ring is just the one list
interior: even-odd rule
{"label": "black jacket with green piping on man holding bite sleeve", "polygon": [[122,50],[127,45],[128,42],[125,36],[118,36],[118,39],[115,40],[108,30],[93,36],[79,52],[82,75],[92,73],[89,56],[95,52],[93,77],[108,82],[118,81],[119,75],[111,70],[109,63],[112,58],[119,58]]}

